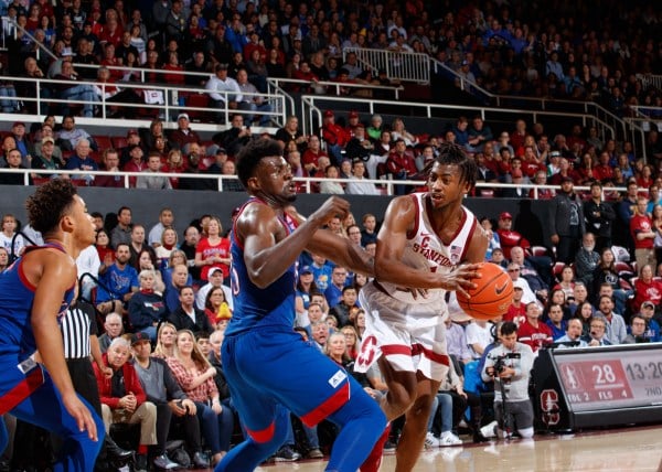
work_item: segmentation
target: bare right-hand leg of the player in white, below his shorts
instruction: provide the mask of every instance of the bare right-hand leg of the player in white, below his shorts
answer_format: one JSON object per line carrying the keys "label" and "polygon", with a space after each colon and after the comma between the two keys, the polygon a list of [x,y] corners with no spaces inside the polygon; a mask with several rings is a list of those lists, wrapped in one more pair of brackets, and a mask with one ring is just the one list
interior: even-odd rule
{"label": "bare right-hand leg of the player in white, below his shorts", "polygon": [[418,376],[417,396],[414,405],[407,410],[405,427],[397,444],[395,466],[396,472],[409,472],[414,469],[427,432],[427,421],[430,407],[439,389],[439,382],[430,380],[420,373]]}

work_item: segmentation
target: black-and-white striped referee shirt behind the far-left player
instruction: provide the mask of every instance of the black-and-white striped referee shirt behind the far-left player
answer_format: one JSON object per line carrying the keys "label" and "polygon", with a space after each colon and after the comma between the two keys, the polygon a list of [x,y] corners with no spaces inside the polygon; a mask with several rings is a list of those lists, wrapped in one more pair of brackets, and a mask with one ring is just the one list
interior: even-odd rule
{"label": "black-and-white striped referee shirt behind the far-left player", "polygon": [[81,301],[72,304],[67,309],[66,315],[62,317],[61,329],[64,357],[68,360],[89,358],[92,355],[89,335],[97,334],[92,305]]}

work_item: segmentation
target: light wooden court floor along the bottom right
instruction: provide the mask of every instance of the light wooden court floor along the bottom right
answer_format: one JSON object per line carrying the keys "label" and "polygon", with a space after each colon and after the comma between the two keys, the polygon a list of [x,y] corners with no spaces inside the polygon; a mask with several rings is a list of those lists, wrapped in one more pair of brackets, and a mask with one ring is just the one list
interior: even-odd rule
{"label": "light wooden court floor along the bottom right", "polygon": [[[263,465],[261,472],[323,472],[325,461]],[[387,454],[382,472],[395,470]],[[425,451],[414,472],[662,472],[662,426],[512,440]]]}

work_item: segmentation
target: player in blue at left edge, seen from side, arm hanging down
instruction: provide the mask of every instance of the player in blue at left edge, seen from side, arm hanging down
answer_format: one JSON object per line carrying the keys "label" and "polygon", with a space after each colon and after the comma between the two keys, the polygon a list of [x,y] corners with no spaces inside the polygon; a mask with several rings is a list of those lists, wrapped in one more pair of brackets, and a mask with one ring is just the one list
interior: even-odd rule
{"label": "player in blue at left edge, seen from side, arm hanging down", "polygon": [[[74,390],[58,320],[75,298],[75,258],[94,243],[94,225],[68,180],[39,187],[26,207],[45,244],[28,247],[0,275],[0,414],[62,438],[55,471],[87,472],[94,470],[104,423]],[[0,419],[0,451],[7,443]]]}

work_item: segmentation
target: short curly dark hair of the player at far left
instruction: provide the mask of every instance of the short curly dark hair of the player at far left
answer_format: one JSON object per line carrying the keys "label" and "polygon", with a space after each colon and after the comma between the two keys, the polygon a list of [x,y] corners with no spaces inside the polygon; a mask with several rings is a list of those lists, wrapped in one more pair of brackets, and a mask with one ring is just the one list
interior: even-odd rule
{"label": "short curly dark hair of the player at far left", "polygon": [[44,235],[51,233],[76,194],[76,187],[66,179],[53,179],[40,186],[25,202],[30,225]]}

